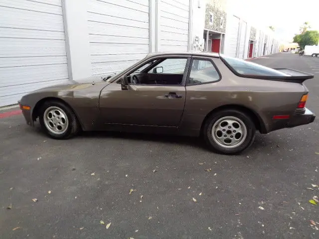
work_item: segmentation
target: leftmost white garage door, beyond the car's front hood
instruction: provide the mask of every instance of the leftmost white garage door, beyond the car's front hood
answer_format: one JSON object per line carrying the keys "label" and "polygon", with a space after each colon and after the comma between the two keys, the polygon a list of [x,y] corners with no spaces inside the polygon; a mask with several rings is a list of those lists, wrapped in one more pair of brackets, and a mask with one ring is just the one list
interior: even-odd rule
{"label": "leftmost white garage door, beyond the car's front hood", "polygon": [[1,0],[0,106],[67,81],[61,0]]}

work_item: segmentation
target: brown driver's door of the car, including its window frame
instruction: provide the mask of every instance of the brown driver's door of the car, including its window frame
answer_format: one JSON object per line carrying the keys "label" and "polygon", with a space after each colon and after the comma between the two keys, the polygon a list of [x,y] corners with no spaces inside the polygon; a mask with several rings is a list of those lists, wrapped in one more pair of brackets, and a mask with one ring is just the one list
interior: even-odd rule
{"label": "brown driver's door of the car, including its window frame", "polygon": [[[100,95],[100,112],[106,124],[178,126],[185,105],[185,79],[189,57],[160,58],[126,77],[127,90],[118,81]],[[134,80],[135,79],[135,80]]]}

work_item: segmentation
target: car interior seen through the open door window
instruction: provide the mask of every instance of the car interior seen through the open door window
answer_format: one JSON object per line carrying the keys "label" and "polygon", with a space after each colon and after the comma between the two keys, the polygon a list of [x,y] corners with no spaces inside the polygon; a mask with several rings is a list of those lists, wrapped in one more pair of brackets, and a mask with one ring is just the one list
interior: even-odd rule
{"label": "car interior seen through the open door window", "polygon": [[153,60],[128,75],[134,85],[181,85],[187,58]]}

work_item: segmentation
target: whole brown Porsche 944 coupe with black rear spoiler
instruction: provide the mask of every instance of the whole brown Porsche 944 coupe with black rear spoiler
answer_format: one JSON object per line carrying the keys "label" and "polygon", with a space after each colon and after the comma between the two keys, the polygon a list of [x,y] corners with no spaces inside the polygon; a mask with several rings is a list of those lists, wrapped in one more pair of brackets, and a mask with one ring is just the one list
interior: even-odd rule
{"label": "whole brown Porsche 944 coupe with black rear spoiler", "polygon": [[54,86],[19,102],[29,125],[51,137],[80,129],[202,135],[217,152],[249,147],[255,131],[308,124],[314,76],[215,53],[155,53],[105,82]]}

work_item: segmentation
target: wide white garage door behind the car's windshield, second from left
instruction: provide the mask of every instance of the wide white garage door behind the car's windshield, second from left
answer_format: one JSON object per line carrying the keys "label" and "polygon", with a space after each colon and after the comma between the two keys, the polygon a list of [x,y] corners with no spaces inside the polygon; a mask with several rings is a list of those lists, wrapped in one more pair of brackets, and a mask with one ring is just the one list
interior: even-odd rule
{"label": "wide white garage door behind the car's windshield, second from left", "polygon": [[149,0],[89,0],[92,75],[119,72],[149,53]]}

